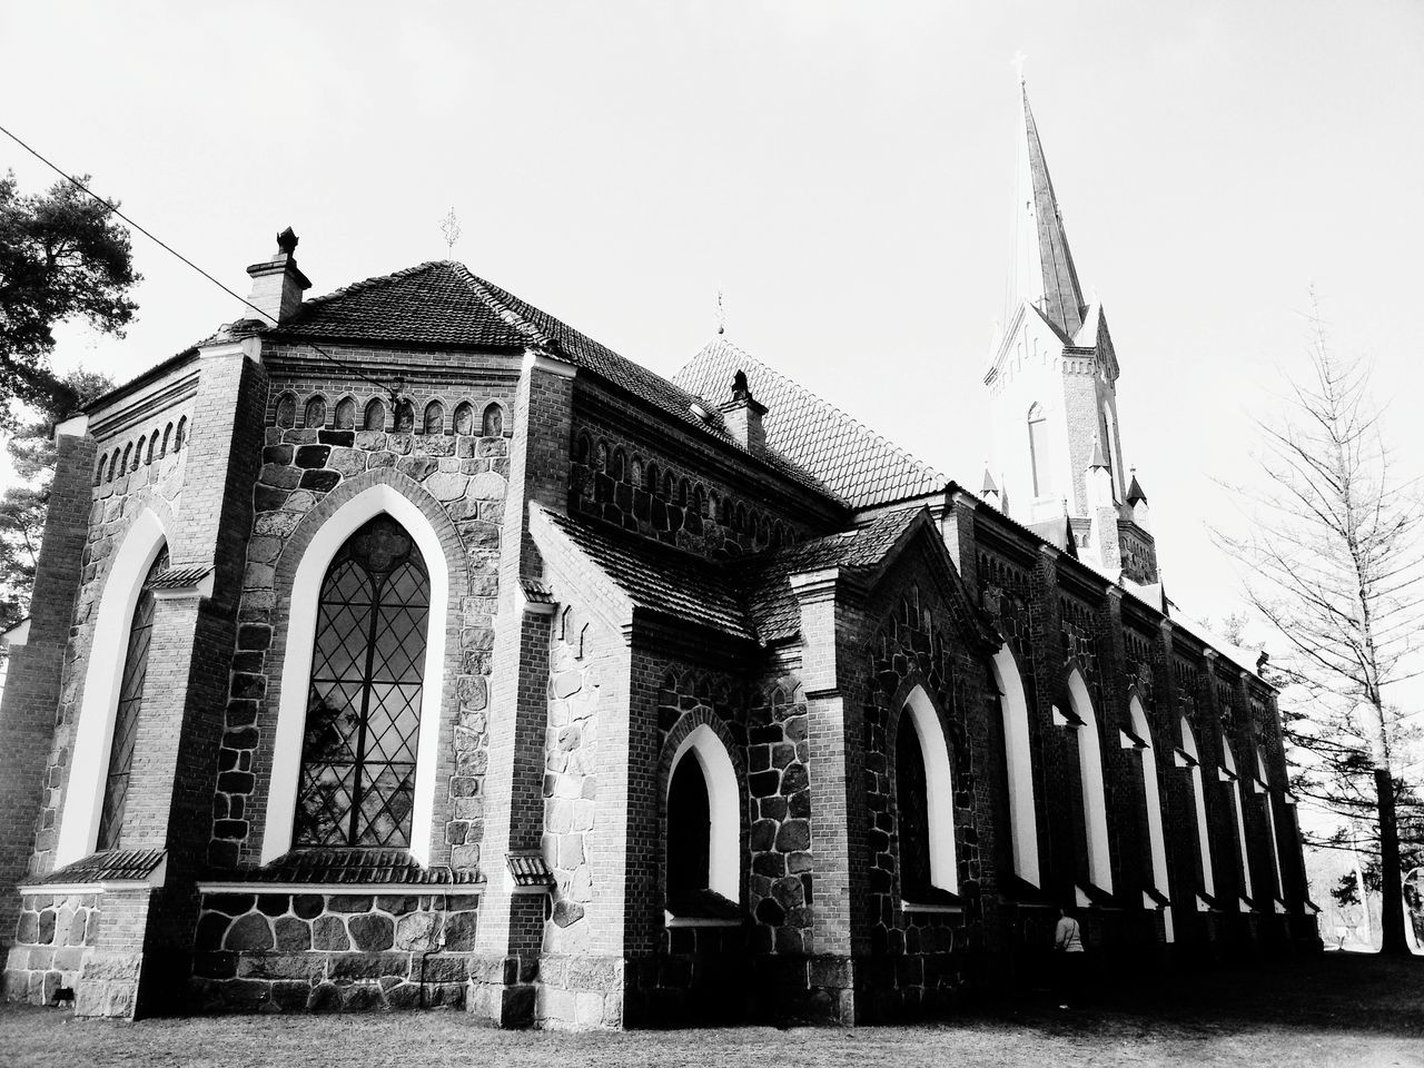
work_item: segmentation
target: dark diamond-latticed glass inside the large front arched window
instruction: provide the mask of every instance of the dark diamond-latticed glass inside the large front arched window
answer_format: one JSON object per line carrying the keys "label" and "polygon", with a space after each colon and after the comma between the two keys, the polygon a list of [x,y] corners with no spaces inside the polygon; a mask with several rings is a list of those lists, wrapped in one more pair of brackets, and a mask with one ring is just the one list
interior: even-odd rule
{"label": "dark diamond-latticed glass inside the large front arched window", "polygon": [[293,846],[409,847],[429,615],[420,550],[377,515],[322,581]]}

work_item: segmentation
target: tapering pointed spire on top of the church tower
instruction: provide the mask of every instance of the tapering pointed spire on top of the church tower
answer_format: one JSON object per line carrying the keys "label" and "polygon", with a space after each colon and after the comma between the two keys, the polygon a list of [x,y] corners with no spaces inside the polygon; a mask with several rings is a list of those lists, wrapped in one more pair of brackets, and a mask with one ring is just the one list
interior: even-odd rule
{"label": "tapering pointed spire on top of the church tower", "polygon": [[1015,258],[1010,278],[1005,322],[1020,300],[1037,308],[1065,339],[1082,326],[1084,299],[1078,272],[1068,251],[1058,198],[1048,177],[1038,125],[1028,107],[1028,88],[1020,83],[1024,103],[1022,140],[1018,150],[1018,197],[1014,205]]}

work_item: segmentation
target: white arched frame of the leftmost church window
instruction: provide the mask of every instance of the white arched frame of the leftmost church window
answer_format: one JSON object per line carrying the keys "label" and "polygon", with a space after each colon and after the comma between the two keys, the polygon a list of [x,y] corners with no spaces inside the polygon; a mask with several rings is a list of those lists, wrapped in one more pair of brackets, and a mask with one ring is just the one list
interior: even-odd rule
{"label": "white arched frame of the leftmost church window", "polygon": [[148,568],[167,543],[168,533],[162,521],[145,508],[124,535],[104,581],[84,672],[84,698],[74,731],[74,753],[70,758],[68,787],[54,850],[56,867],[83,860],[94,852],[98,842],[108,758],[114,745],[114,718],[128,654],[128,629]]}

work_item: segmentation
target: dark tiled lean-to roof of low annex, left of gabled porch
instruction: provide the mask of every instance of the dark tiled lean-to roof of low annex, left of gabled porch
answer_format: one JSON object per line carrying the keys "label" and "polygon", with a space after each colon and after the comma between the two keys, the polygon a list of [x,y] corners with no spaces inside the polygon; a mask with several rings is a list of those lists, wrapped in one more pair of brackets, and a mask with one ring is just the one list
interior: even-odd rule
{"label": "dark tiled lean-to roof of low annex, left of gabled porch", "polygon": [[756,639],[723,565],[592,520],[534,508],[592,561],[634,605]]}

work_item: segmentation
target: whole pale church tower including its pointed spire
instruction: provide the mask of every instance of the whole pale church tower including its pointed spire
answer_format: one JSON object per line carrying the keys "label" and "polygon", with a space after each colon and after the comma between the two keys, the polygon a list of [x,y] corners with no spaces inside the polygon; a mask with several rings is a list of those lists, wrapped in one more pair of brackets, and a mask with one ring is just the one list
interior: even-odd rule
{"label": "whole pale church tower including its pointed spire", "polygon": [[1020,93],[1014,261],[984,375],[990,470],[1012,518],[1114,580],[1153,587],[1146,497],[1118,434],[1118,356],[1102,303],[1084,299],[1022,83]]}

